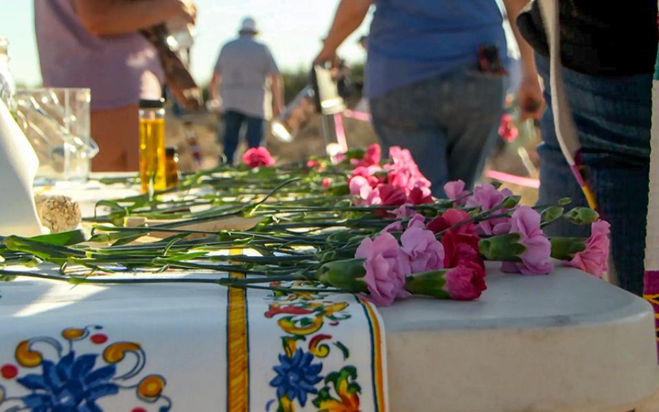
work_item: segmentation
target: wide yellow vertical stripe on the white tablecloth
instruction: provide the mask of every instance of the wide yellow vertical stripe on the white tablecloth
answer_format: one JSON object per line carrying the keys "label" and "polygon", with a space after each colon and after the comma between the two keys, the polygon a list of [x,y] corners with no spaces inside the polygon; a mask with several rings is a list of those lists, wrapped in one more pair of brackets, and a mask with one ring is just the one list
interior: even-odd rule
{"label": "wide yellow vertical stripe on the white tablecloth", "polygon": [[[231,255],[242,254],[231,249]],[[231,273],[231,277],[245,277]],[[247,336],[246,290],[229,288],[227,308],[227,411],[245,412],[249,409],[249,359]]]}

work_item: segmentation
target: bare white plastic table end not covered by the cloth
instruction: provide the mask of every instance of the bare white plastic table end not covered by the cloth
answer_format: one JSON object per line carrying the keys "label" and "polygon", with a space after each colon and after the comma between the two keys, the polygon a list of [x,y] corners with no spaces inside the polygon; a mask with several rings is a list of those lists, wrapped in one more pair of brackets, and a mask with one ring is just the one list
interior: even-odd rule
{"label": "bare white plastic table end not covered by the cloth", "polygon": [[392,411],[627,411],[659,388],[651,306],[575,269],[490,265],[478,301],[380,312]]}

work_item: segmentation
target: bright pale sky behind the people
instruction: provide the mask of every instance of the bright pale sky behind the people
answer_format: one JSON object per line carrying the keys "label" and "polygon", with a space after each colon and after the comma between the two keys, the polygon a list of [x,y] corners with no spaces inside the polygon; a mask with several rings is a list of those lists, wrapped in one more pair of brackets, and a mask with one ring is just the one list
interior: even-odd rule
{"label": "bright pale sky behind the people", "polygon": [[[33,0],[0,0],[0,36],[10,41],[10,69],[17,83],[41,83],[34,40]],[[45,1],[45,0],[34,0]],[[338,0],[196,0],[196,45],[192,74],[205,84],[219,49],[238,32],[244,16],[253,16],[261,40],[272,50],[281,69],[307,67],[319,52],[320,39],[329,30]],[[356,44],[367,34],[370,17],[340,49],[348,61],[360,61],[364,52]]]}

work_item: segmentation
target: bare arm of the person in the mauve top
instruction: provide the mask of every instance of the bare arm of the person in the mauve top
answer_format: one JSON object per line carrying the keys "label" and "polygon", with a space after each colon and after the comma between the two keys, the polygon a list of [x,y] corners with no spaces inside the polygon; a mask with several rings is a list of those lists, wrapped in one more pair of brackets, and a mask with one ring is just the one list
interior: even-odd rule
{"label": "bare arm of the person in the mauve top", "polygon": [[169,19],[194,22],[194,7],[179,0],[75,0],[76,15],[98,36],[127,34]]}

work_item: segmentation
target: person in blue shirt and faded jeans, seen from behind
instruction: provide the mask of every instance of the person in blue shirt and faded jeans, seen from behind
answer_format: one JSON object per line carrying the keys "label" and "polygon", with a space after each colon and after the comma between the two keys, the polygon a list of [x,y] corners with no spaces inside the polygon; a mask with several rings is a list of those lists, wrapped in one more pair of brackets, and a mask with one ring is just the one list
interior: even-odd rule
{"label": "person in blue shirt and faded jeans, seen from behind", "polygon": [[[527,0],[504,3],[514,21]],[[316,62],[336,59],[371,4],[365,94],[383,150],[409,149],[435,196],[455,179],[472,187],[496,143],[505,100],[507,45],[496,0],[342,0]],[[544,104],[533,51],[512,27],[522,120],[538,119]]]}

